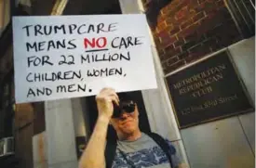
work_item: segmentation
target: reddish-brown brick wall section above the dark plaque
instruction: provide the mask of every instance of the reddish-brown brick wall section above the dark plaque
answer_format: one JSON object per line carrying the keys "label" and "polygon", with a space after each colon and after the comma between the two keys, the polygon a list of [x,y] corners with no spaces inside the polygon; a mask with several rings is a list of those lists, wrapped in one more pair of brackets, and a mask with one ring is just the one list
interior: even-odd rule
{"label": "reddish-brown brick wall section above the dark plaque", "polygon": [[[142,0],[146,10],[151,1]],[[165,74],[241,40],[223,0],[172,0],[156,19],[152,32]]]}

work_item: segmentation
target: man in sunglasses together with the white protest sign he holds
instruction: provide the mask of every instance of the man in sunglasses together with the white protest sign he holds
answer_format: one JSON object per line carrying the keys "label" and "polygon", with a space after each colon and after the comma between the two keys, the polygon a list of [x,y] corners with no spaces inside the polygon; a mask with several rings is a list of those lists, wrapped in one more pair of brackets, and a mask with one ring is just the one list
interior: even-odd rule
{"label": "man in sunglasses together with the white protest sign he holds", "polygon": [[[16,103],[92,96],[103,87],[117,92],[157,87],[144,15],[12,20]],[[119,96],[110,88],[98,94],[99,118],[80,168],[181,167],[172,145],[161,136],[141,133],[136,102]],[[118,141],[107,145],[105,160],[109,123]]]}

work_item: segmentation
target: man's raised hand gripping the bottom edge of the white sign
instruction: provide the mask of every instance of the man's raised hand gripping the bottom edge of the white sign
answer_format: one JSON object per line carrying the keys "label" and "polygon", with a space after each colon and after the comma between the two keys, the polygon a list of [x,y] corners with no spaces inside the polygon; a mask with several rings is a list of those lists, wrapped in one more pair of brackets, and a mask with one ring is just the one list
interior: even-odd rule
{"label": "man's raised hand gripping the bottom edge of the white sign", "polygon": [[113,103],[119,105],[119,98],[113,88],[103,88],[96,96],[96,102],[99,111],[99,118],[106,117],[110,120],[114,111]]}

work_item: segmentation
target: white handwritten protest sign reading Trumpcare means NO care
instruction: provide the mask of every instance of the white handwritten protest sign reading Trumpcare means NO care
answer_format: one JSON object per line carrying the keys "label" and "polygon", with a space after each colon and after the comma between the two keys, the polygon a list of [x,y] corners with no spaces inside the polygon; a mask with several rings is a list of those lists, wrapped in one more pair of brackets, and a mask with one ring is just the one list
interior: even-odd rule
{"label": "white handwritten protest sign reading Trumpcare means NO care", "polygon": [[14,17],[17,103],[156,87],[144,15]]}

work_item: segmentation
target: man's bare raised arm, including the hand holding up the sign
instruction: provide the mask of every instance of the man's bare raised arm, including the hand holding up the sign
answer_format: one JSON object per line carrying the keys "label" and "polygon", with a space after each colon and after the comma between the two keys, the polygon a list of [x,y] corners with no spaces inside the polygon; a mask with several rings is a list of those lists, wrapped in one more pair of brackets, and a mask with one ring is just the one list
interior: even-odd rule
{"label": "man's bare raised arm, including the hand holding up the sign", "polygon": [[119,99],[112,88],[103,88],[96,97],[98,119],[92,135],[89,138],[80,161],[79,168],[105,168],[104,150],[106,144],[107,128],[113,115],[113,102],[119,104]]}

